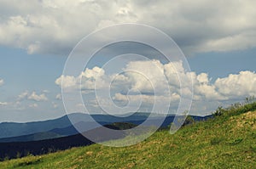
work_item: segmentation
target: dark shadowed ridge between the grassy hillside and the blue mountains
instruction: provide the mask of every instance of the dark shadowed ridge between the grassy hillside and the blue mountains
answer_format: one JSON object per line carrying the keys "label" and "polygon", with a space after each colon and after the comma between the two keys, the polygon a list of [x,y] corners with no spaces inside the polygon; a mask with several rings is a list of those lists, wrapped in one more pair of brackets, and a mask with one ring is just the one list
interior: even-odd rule
{"label": "dark shadowed ridge between the grassy hillside and the blue mountains", "polygon": [[[108,127],[113,130],[125,130],[136,126],[137,125],[126,122],[115,122],[111,125],[105,125],[104,127]],[[121,131],[121,134],[115,134],[112,131],[102,132],[101,127],[97,127],[86,132],[88,135],[94,135],[95,132],[101,133],[101,136],[96,138],[97,142],[108,141],[112,138],[118,139],[125,137],[125,132],[123,131]],[[32,136],[34,135],[27,135],[27,138]],[[0,143],[0,160],[3,160],[5,157],[13,159],[23,157],[28,154],[44,155],[49,152],[55,152],[56,150],[70,149],[72,147],[85,146],[90,144],[94,143],[89,139],[84,138],[84,136],[80,133],[67,137],[45,139],[39,141]]]}

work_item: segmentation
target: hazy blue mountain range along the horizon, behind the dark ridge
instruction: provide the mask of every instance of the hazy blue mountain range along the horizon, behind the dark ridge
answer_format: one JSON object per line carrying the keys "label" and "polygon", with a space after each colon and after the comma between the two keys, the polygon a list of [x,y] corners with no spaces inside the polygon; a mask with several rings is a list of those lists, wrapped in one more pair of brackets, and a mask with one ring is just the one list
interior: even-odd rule
{"label": "hazy blue mountain range along the horizon, behind the dark ridge", "polygon": [[[71,115],[64,115],[61,118],[57,118],[49,121],[34,121],[27,123],[15,123],[15,122],[3,122],[0,123],[0,143],[2,142],[26,142],[43,140],[48,138],[59,138],[64,136],[70,136],[79,133],[69,118],[76,127],[82,127],[86,132],[93,128],[99,127],[92,120],[97,121],[99,124],[108,125],[114,122],[129,122],[134,125],[142,124],[147,118],[149,113],[135,113],[127,117],[118,117],[113,115],[90,115],[74,113]],[[69,118],[68,118],[69,117]],[[207,117],[192,116],[195,121],[206,119]],[[174,115],[168,115],[165,121],[162,122],[161,127],[167,127],[172,123]],[[160,116],[154,115],[154,118],[148,121],[146,126],[157,125],[160,123]]]}

